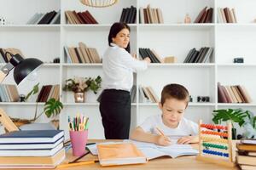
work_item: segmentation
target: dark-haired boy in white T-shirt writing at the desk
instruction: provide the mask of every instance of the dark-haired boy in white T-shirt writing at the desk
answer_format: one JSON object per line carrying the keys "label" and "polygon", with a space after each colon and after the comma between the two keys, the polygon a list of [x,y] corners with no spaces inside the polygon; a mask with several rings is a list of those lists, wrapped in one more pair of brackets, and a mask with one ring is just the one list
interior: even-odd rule
{"label": "dark-haired boy in white T-shirt writing at the desk", "polygon": [[131,133],[131,139],[166,146],[172,144],[170,139],[179,136],[177,144],[197,143],[198,125],[183,117],[188,104],[186,88],[179,84],[166,85],[159,103],[162,115],[148,117]]}

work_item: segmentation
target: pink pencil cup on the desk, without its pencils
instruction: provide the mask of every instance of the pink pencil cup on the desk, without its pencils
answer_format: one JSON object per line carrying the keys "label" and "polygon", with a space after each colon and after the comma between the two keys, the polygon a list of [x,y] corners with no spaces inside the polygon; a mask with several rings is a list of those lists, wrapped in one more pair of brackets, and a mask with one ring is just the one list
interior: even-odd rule
{"label": "pink pencil cup on the desk, without its pencils", "polygon": [[69,131],[70,141],[72,144],[73,156],[82,156],[85,153],[88,130]]}

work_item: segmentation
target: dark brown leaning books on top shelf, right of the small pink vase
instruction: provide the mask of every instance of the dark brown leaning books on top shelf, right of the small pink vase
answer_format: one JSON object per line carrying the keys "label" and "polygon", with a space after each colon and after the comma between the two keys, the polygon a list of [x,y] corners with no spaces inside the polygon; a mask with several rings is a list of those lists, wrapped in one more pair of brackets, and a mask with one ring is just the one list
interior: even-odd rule
{"label": "dark brown leaning books on top shelf, right of the small pink vase", "polygon": [[195,18],[194,23],[212,23],[213,8],[203,8]]}

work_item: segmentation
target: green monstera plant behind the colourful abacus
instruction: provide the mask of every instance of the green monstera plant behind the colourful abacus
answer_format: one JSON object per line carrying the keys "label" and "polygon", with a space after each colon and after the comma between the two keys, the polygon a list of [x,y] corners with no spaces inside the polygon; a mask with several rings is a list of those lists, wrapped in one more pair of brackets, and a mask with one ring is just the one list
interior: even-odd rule
{"label": "green monstera plant behind the colourful abacus", "polygon": [[220,124],[221,122],[231,121],[232,123],[232,139],[236,139],[236,128],[234,123],[239,127],[244,127],[244,137],[256,138],[256,116],[251,111],[243,111],[241,109],[221,109],[213,111],[212,122]]}

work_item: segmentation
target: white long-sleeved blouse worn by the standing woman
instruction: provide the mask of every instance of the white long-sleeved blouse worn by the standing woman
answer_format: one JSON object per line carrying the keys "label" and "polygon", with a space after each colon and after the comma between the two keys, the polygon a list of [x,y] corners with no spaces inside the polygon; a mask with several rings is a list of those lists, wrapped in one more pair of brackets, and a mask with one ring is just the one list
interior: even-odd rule
{"label": "white long-sleeved blouse worn by the standing woman", "polygon": [[103,89],[130,91],[133,84],[133,72],[147,69],[147,62],[132,58],[125,48],[114,43],[102,57]]}

